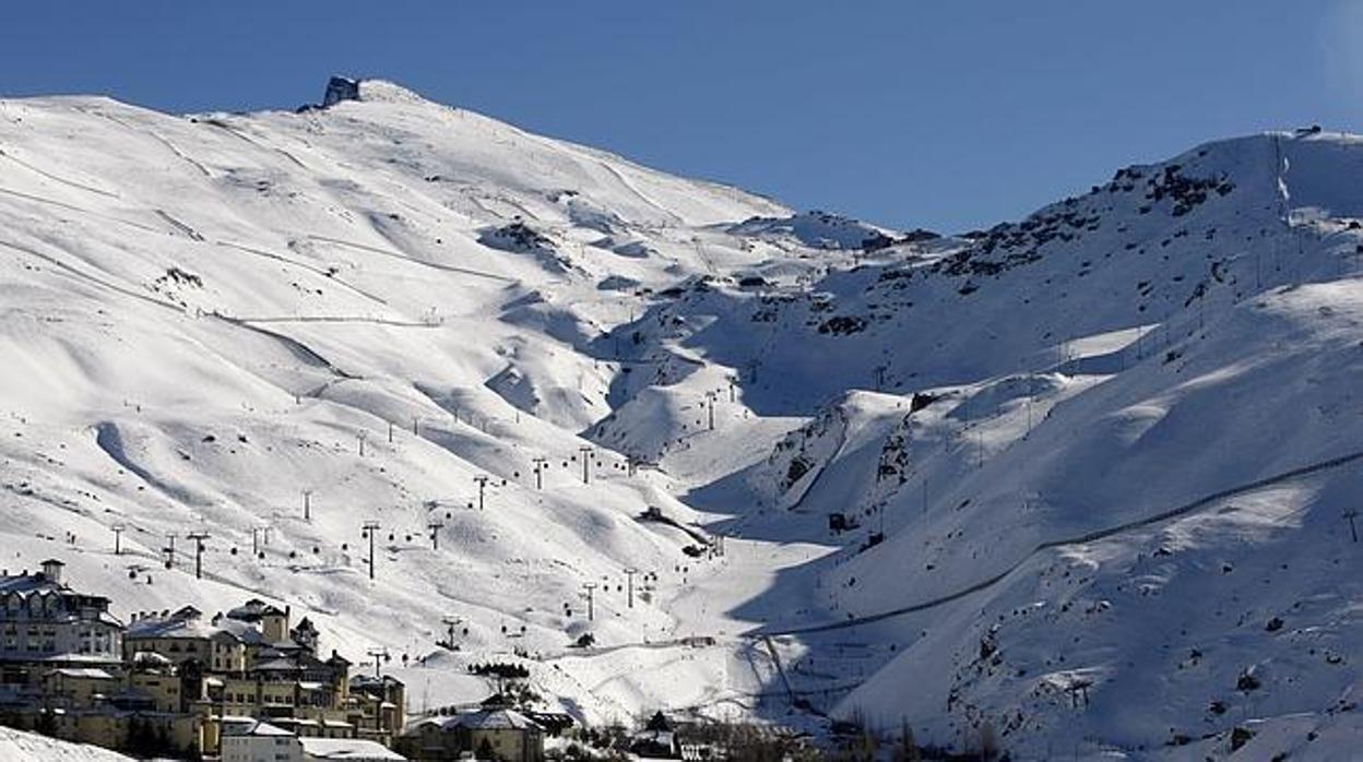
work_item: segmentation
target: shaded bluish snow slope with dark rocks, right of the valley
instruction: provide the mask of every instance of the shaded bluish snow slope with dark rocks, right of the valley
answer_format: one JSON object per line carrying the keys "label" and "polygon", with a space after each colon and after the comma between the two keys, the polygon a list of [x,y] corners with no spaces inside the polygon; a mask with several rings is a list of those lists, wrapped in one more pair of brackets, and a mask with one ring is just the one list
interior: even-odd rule
{"label": "shaded bluish snow slope with dark rocks, right of the valley", "polygon": [[829,278],[864,318],[834,363],[810,320],[771,320],[803,334],[770,345],[807,349],[774,359],[796,388],[849,369],[829,388],[916,393],[838,397],[752,472],[786,523],[859,525],[821,566],[825,624],[769,628],[803,641],[795,672],[827,671],[834,638],[895,643],[841,713],[957,747],[988,724],[1036,757],[1224,754],[1250,720],[1349,712],[1358,149],[1214,143],[946,258]]}

